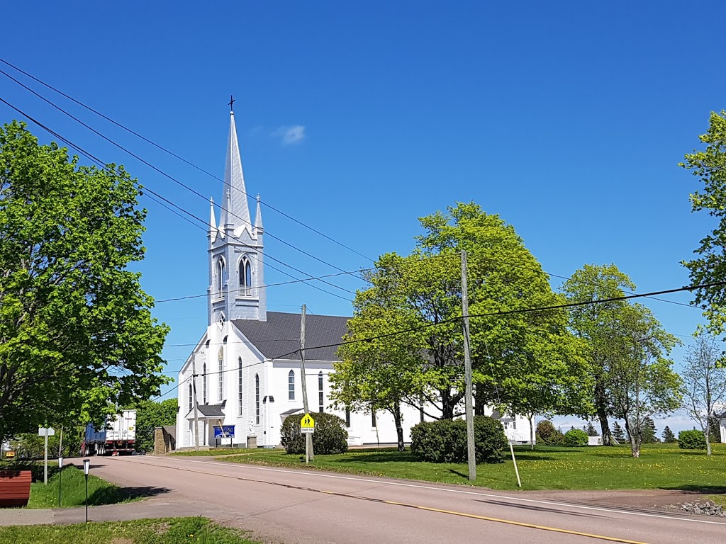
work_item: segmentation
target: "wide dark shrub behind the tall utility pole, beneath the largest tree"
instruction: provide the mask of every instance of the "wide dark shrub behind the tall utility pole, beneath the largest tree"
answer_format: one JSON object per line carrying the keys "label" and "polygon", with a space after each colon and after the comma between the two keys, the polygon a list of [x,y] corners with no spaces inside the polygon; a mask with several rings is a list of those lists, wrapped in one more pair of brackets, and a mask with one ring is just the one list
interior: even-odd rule
{"label": "wide dark shrub behind the tall utility pole, beneath the largest tree", "polygon": [[[502,424],[488,416],[474,416],[477,463],[501,463],[507,448]],[[465,463],[466,421],[440,419],[416,424],[411,429],[411,453],[431,463]]]}

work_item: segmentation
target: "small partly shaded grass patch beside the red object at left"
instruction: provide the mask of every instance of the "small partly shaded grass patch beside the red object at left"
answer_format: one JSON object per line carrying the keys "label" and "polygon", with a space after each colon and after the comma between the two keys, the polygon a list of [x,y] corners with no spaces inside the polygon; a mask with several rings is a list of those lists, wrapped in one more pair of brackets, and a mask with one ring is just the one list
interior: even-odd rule
{"label": "small partly shaded grass patch beside the red object at left", "polygon": [[[28,500],[27,508],[57,508],[60,483],[62,483],[61,506],[86,504],[86,482],[83,470],[69,465],[63,468],[62,480],[56,470],[53,476],[49,477],[48,485],[45,485],[42,480],[30,484],[30,500]],[[136,498],[134,493],[89,474],[89,506],[125,503],[134,498]],[[22,542],[22,540],[18,542]]]}

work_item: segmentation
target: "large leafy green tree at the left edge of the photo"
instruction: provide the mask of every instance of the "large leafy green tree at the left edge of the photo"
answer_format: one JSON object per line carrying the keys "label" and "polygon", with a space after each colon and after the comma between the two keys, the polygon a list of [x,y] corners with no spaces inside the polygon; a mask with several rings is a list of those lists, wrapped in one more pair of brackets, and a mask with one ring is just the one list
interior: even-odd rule
{"label": "large leafy green tree at the left edge of the photo", "polygon": [[100,421],[158,392],[168,328],[129,263],[144,210],[128,173],[0,130],[0,438]]}

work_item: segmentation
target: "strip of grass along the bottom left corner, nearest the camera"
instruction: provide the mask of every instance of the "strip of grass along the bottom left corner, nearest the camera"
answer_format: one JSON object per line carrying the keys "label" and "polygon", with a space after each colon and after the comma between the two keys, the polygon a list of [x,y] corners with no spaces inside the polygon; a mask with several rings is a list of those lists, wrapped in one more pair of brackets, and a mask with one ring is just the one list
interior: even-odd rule
{"label": "strip of grass along the bottom left corner, nearest the camera", "polygon": [[205,518],[0,527],[0,544],[259,544]]}

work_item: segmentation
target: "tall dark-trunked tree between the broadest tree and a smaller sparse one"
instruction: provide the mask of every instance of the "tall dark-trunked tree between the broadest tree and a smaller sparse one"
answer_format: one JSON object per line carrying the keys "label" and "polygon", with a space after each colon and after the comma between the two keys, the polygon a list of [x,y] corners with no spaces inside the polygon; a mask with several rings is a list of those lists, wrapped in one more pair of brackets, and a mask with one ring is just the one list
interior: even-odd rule
{"label": "tall dark-trunked tree between the broadest tree and a smaller sparse one", "polygon": [[[562,286],[569,302],[589,302],[622,297],[625,289],[635,289],[635,284],[616,265],[584,265]],[[586,346],[585,357],[592,388],[589,393],[600,421],[603,445],[613,445],[608,416],[612,415],[611,366],[618,342],[613,329],[619,323],[621,312],[627,308],[625,301],[584,304],[570,310],[570,326],[574,334]]]}

